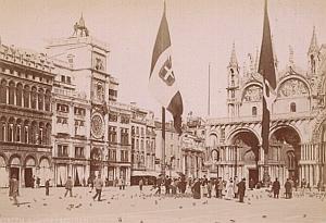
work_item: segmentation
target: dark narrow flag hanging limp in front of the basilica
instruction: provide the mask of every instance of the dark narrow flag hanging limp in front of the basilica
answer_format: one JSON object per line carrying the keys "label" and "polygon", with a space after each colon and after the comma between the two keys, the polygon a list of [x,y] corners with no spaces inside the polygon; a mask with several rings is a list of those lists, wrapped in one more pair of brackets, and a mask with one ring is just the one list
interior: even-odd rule
{"label": "dark narrow flag hanging limp in front of the basilica", "polygon": [[264,27],[261,47],[259,73],[263,75],[263,117],[262,117],[262,146],[265,153],[268,152],[269,122],[272,104],[276,99],[276,76],[273,58],[271,27],[267,14],[267,1],[264,9]]}

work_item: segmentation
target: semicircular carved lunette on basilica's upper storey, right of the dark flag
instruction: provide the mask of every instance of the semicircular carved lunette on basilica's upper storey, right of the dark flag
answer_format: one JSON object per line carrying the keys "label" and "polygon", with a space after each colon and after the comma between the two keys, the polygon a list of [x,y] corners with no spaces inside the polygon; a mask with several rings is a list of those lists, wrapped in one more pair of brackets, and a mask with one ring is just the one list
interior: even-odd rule
{"label": "semicircular carved lunette on basilica's upper storey, right of the dark flag", "polygon": [[279,87],[279,97],[293,97],[309,95],[308,87],[299,79],[289,79]]}

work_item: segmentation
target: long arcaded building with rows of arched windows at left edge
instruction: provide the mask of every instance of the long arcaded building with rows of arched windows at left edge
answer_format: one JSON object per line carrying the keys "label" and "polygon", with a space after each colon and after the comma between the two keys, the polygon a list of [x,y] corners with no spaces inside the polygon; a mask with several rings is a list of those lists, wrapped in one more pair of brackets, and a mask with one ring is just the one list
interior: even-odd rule
{"label": "long arcaded building with rows of arched windows at left edge", "polygon": [[43,53],[0,45],[0,187],[52,178],[52,71]]}

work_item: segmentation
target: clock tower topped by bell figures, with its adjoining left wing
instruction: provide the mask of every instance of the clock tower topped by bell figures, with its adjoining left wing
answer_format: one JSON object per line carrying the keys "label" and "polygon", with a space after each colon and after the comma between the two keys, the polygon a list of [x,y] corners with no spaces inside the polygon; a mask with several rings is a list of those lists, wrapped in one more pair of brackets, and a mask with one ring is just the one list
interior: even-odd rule
{"label": "clock tower topped by bell figures, with its adjoining left wing", "polygon": [[76,185],[99,174],[111,176],[109,158],[117,148],[109,144],[109,104],[117,99],[118,83],[108,71],[108,45],[89,35],[82,16],[73,36],[53,39],[47,52],[61,63],[55,63],[59,73],[53,116],[57,185],[67,176]]}

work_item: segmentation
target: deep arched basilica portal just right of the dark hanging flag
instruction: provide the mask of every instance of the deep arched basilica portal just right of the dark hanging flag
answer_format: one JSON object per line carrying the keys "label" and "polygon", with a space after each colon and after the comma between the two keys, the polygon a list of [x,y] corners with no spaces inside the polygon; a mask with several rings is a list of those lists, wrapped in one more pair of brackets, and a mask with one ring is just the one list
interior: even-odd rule
{"label": "deep arched basilica portal just right of the dark hanging flag", "polygon": [[288,177],[299,179],[300,143],[298,132],[291,126],[278,126],[272,132],[268,150],[272,181],[275,177],[281,183]]}

